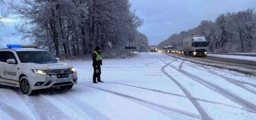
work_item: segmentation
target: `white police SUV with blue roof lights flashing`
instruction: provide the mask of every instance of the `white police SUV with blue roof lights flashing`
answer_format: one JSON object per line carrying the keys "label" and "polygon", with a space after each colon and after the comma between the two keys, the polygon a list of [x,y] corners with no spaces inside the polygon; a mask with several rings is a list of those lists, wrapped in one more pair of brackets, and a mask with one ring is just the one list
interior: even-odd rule
{"label": "white police SUV with blue roof lights flashing", "polygon": [[0,49],[0,86],[18,87],[25,95],[52,87],[71,89],[77,84],[76,70],[59,60],[37,45],[7,45]]}

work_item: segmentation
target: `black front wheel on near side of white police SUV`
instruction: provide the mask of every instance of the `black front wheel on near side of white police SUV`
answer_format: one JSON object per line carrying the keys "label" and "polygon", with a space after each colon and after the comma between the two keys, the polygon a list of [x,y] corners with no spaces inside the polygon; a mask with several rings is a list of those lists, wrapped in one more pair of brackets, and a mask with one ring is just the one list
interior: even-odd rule
{"label": "black front wheel on near side of white police SUV", "polygon": [[24,95],[32,95],[34,92],[32,91],[30,82],[28,77],[24,76],[20,79],[20,91],[21,93],[23,93]]}

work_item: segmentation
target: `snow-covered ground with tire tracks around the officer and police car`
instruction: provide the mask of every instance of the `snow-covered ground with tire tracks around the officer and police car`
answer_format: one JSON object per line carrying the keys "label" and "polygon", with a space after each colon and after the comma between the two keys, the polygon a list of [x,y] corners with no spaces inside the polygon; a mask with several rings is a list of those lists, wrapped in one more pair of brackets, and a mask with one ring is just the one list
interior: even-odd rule
{"label": "snow-covered ground with tire tracks around the officer and police car", "polygon": [[79,76],[69,91],[24,96],[0,89],[0,120],[256,120],[256,78],[196,65],[162,53],[70,62]]}

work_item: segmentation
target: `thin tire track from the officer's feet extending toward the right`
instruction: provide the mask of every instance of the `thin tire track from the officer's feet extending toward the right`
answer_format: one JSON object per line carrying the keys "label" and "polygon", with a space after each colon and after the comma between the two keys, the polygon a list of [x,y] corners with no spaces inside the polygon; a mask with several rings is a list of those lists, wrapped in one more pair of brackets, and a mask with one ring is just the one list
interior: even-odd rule
{"label": "thin tire track from the officer's feet extending toward the right", "polygon": [[[108,81],[105,81],[105,82],[108,82]],[[180,96],[180,97],[188,98],[187,96],[183,96],[183,95],[179,95],[179,94],[173,94],[173,93],[168,93],[168,92],[164,92],[164,91],[160,91],[160,90],[155,90],[155,89],[143,88],[143,87],[127,85],[127,84],[123,84],[123,83],[117,83],[117,82],[108,82],[108,83],[120,84],[120,85],[130,86],[130,87],[134,87],[134,88],[154,91],[154,92],[158,92],[158,93],[162,93],[162,94],[168,94],[168,95],[172,95],[172,96]],[[195,97],[192,97],[192,98],[194,100],[198,100],[198,101],[202,101],[202,102],[207,102],[207,103],[212,103],[212,104],[220,104],[220,105],[224,105],[224,106],[228,106],[228,107],[233,107],[233,108],[239,108],[237,106],[228,105],[228,104],[224,104],[224,103],[220,103],[220,102],[215,102],[215,101],[211,101],[211,100],[207,100],[207,99],[201,99],[201,98],[195,98]]]}

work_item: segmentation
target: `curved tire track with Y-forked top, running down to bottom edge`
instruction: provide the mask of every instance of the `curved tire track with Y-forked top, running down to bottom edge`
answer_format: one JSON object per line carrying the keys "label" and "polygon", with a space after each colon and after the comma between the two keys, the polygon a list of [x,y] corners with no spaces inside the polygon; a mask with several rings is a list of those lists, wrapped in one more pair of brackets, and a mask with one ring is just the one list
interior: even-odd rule
{"label": "curved tire track with Y-forked top, running down to bottom edge", "polygon": [[159,57],[157,57],[160,61],[162,61],[163,63],[165,63],[166,65],[163,66],[161,68],[161,72],[163,72],[167,77],[169,77],[183,92],[184,94],[189,98],[189,100],[192,102],[192,104],[194,105],[194,107],[197,109],[197,111],[199,112],[199,114],[201,115],[203,120],[212,120],[208,114],[204,111],[204,109],[200,106],[200,104],[197,102],[197,100],[193,99],[193,96],[190,94],[189,91],[187,91],[186,88],[184,88],[176,79],[174,79],[171,75],[169,75],[164,69],[167,66],[170,66],[170,64],[174,61],[176,61],[177,59],[172,60],[169,63],[164,62],[163,60],[161,60]]}

